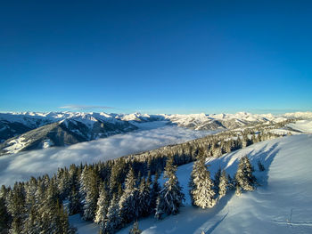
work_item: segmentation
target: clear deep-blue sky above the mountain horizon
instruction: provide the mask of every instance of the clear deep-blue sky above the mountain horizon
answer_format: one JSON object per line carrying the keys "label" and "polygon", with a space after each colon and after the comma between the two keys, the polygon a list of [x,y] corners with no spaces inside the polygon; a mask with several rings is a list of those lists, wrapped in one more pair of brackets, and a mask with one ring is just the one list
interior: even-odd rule
{"label": "clear deep-blue sky above the mountain horizon", "polygon": [[312,110],[312,2],[3,1],[0,79],[0,111]]}

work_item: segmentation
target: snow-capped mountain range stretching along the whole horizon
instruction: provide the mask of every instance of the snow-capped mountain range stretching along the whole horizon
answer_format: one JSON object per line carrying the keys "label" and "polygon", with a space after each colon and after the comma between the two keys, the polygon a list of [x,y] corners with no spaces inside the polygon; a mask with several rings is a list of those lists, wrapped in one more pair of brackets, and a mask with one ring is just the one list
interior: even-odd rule
{"label": "snow-capped mountain range stretching along the whole horizon", "polygon": [[259,123],[277,123],[288,118],[312,118],[312,112],[272,114],[147,115],[83,112],[0,113],[0,155],[29,149],[67,146],[118,133],[137,130],[140,123],[166,121],[194,130],[234,129]]}

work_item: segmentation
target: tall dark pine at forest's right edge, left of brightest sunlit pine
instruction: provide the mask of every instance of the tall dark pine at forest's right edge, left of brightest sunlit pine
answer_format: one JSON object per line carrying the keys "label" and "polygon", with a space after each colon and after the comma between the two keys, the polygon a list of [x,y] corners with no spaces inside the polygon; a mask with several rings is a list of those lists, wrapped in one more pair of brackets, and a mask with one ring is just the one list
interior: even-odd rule
{"label": "tall dark pine at forest's right edge, left of brightest sunlit pine", "polygon": [[182,192],[182,187],[177,181],[177,165],[173,165],[174,158],[168,157],[165,167],[165,182],[164,187],[160,190],[160,196],[157,200],[155,217],[160,219],[161,214],[177,214],[180,206],[183,205],[185,194]]}

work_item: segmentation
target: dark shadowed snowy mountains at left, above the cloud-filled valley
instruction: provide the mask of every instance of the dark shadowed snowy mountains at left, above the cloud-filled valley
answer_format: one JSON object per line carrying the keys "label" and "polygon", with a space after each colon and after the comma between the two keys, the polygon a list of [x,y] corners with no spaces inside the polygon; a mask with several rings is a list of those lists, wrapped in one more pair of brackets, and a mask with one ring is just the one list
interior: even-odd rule
{"label": "dark shadowed snowy mountains at left, above the cloud-filled valley", "polygon": [[0,155],[66,146],[137,129],[127,121],[104,113],[66,112],[0,114],[0,126],[4,141],[0,144]]}

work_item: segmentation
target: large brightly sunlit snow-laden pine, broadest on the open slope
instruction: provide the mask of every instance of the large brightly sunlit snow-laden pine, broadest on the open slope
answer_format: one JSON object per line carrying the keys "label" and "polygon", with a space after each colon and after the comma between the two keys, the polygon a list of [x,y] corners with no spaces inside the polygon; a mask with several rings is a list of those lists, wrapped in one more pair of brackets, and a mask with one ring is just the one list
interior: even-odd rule
{"label": "large brightly sunlit snow-laden pine, broadest on the open slope", "polygon": [[193,165],[193,188],[191,195],[193,205],[201,208],[216,205],[214,183],[210,179],[210,173],[205,165],[205,157],[199,158]]}

